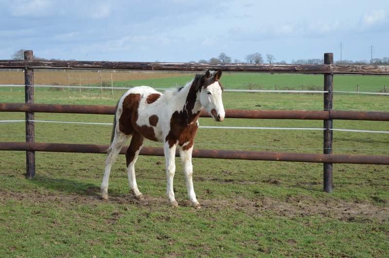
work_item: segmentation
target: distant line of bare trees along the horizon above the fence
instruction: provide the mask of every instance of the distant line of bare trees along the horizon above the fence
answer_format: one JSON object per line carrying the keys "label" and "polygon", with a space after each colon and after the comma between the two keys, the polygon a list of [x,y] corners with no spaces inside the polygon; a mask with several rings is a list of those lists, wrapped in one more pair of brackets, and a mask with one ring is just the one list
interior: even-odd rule
{"label": "distant line of bare trees along the horizon above the fence", "polygon": [[[24,59],[24,49],[20,49],[18,51],[15,51],[15,53],[11,56],[13,60],[23,60]],[[34,60],[50,60],[50,61],[56,61],[60,59],[46,59],[46,58],[40,58],[34,55]],[[266,63],[267,64],[287,64],[285,61],[281,62],[275,62],[275,57],[271,54],[266,55]],[[225,53],[220,53],[217,58],[212,57],[210,60],[201,59],[198,62],[190,61],[190,63],[202,63],[202,64],[264,64],[265,60],[262,54],[256,52],[253,54],[248,54],[245,56],[245,62],[242,62],[239,59],[234,59],[232,62],[232,58],[226,55]],[[291,64],[324,64],[324,59],[298,59],[294,60],[292,59]],[[366,60],[362,61],[351,61],[351,60],[342,60],[342,61],[336,61],[335,64],[361,64],[361,65],[389,65],[389,57],[384,58],[374,58],[370,62]]]}

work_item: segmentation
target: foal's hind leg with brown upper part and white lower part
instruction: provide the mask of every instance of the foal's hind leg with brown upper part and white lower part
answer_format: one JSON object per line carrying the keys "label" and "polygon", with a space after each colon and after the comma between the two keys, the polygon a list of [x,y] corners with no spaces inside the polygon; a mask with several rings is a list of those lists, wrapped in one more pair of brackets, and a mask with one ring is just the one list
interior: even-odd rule
{"label": "foal's hind leg with brown upper part and white lower part", "polygon": [[137,181],[135,178],[135,162],[138,159],[139,152],[143,146],[143,136],[140,133],[134,132],[130,146],[125,153],[125,159],[127,163],[128,182],[130,184],[131,192],[137,199],[143,199],[143,194],[139,191]]}

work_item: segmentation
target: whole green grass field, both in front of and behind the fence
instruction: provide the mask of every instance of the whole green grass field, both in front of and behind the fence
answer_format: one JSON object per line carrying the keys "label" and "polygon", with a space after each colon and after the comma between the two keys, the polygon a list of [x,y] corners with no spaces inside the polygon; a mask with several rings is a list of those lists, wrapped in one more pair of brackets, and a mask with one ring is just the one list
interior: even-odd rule
{"label": "whole green grass field, both in front of and behind the fence", "polygon": [[[245,81],[236,87],[252,83],[262,89],[274,83],[285,88],[322,84],[322,76],[251,76],[225,74],[222,83],[235,87],[236,78]],[[152,80],[156,86],[172,87],[192,77]],[[347,76],[334,79],[335,87],[354,87],[356,81],[370,78],[358,83],[378,90],[388,79],[350,76],[358,80],[341,83],[343,78]],[[150,81],[131,81],[138,82]],[[115,92],[114,99],[96,98],[88,97],[85,90],[82,97],[75,92],[68,98],[66,91],[37,88],[35,102],[115,105],[122,93]],[[319,110],[323,105],[319,94],[227,92],[223,100],[226,108],[245,109]],[[24,102],[24,93],[21,88],[10,92],[3,87],[0,101]],[[385,96],[335,94],[334,108],[388,111],[389,103]],[[0,120],[19,119],[24,119],[23,113],[0,113]],[[35,113],[35,119],[111,123],[113,116]],[[304,120],[225,119],[217,123],[201,118],[199,122],[200,126],[322,127],[322,121]],[[110,126],[38,122],[35,127],[35,141],[45,143],[108,144],[111,130]],[[387,131],[388,122],[336,120],[334,128]],[[0,131],[2,142],[24,141],[23,123],[0,124]],[[335,154],[388,156],[388,143],[388,134],[334,132]],[[322,153],[322,131],[199,129],[195,148]],[[389,256],[387,165],[334,164],[334,193],[326,194],[322,164],[193,159],[195,191],[202,205],[195,210],[186,196],[178,159],[177,209],[165,197],[163,157],[141,156],[136,164],[144,200],[129,194],[123,155],[112,168],[111,197],[101,200],[104,162],[102,154],[37,152],[36,178],[26,180],[25,153],[1,151],[0,257]]]}

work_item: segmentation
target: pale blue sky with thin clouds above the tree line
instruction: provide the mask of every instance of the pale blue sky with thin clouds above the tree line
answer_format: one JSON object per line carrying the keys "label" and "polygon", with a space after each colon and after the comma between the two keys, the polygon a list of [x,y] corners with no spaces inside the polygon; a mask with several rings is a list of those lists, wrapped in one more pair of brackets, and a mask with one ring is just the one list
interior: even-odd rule
{"label": "pale blue sky with thin clouds above the tree line", "polygon": [[389,0],[0,0],[0,60],[232,62],[389,57]]}

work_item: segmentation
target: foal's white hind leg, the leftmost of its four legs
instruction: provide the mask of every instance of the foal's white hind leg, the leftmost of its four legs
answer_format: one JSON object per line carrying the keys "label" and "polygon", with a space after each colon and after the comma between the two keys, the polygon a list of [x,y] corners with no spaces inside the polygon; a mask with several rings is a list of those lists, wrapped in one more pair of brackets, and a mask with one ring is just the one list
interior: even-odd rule
{"label": "foal's white hind leg, the leftmost of its four legs", "polygon": [[108,199],[108,181],[109,174],[111,173],[111,167],[116,161],[116,158],[119,155],[120,150],[123,145],[127,142],[130,135],[125,135],[123,132],[117,132],[113,138],[111,146],[108,148],[107,157],[106,157],[106,168],[103,177],[103,182],[101,183],[101,198]]}

